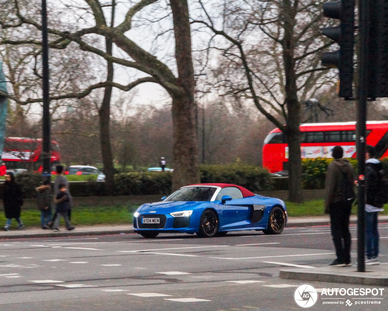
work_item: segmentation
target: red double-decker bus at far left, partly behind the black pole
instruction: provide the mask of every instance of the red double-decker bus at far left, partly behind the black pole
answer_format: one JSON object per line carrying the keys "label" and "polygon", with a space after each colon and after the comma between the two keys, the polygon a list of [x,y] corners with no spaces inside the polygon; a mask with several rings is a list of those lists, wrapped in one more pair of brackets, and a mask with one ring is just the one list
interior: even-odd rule
{"label": "red double-decker bus at far left, partly behind the black pole", "polygon": [[[25,137],[5,137],[2,162],[7,169],[32,169],[41,171],[42,139]],[[59,145],[51,142],[51,164],[59,164],[61,155]]]}

